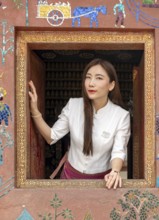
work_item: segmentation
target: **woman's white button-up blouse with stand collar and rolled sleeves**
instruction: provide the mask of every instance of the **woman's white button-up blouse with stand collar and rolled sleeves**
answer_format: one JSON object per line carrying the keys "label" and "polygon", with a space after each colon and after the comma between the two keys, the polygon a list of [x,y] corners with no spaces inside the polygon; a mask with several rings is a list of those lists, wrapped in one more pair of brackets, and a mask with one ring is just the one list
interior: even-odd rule
{"label": "woman's white button-up blouse with stand collar and rolled sleeves", "polygon": [[126,157],[130,137],[130,115],[110,100],[93,117],[93,155],[83,154],[83,98],[71,98],[51,128],[51,144],[70,132],[69,163],[82,173],[100,173],[111,168],[114,158]]}

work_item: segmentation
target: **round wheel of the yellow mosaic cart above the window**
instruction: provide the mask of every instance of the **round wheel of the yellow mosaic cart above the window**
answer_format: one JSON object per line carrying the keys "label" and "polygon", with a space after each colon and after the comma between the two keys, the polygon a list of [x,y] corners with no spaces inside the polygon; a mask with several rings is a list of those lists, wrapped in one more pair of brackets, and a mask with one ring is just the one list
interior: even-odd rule
{"label": "round wheel of the yellow mosaic cart above the window", "polygon": [[47,21],[51,26],[60,26],[64,21],[64,15],[60,10],[52,10],[47,15]]}

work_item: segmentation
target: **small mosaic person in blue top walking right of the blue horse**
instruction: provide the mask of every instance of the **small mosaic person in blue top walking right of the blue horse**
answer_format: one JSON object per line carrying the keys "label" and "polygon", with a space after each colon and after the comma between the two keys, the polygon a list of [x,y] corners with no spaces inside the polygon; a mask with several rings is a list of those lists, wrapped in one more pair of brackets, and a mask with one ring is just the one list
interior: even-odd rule
{"label": "small mosaic person in blue top walking right of the blue horse", "polygon": [[126,17],[125,8],[123,5],[124,0],[119,0],[119,4],[116,4],[113,8],[114,15],[116,15],[115,27],[118,27],[118,23],[120,23],[121,28],[125,28],[124,19]]}

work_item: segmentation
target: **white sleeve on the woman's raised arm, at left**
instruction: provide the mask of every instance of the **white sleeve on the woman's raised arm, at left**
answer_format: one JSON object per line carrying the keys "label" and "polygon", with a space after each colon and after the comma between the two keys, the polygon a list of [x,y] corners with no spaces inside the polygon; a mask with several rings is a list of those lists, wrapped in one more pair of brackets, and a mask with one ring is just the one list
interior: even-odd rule
{"label": "white sleeve on the woman's raised arm, at left", "polygon": [[58,116],[58,120],[51,128],[52,142],[50,145],[56,143],[69,132],[69,102],[62,109],[61,114]]}

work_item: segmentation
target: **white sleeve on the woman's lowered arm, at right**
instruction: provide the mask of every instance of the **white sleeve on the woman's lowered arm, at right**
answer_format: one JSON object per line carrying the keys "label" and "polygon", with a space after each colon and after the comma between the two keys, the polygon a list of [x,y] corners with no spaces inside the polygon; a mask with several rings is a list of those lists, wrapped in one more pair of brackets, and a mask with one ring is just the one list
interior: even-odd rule
{"label": "white sleeve on the woman's lowered arm, at right", "polygon": [[117,132],[114,137],[113,149],[111,152],[111,160],[120,158],[125,160],[127,152],[127,144],[130,138],[130,114],[127,112],[118,124]]}

